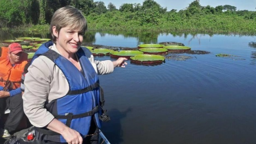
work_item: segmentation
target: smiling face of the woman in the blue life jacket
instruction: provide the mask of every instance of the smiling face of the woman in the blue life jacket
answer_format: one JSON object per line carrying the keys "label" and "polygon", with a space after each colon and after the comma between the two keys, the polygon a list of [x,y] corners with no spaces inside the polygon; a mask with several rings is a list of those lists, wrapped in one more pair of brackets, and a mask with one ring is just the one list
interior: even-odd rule
{"label": "smiling face of the woman in the blue life jacket", "polygon": [[83,31],[77,31],[70,27],[61,28],[58,32],[56,27],[53,27],[53,34],[57,36],[56,47],[60,52],[74,54],[81,47],[83,42]]}

